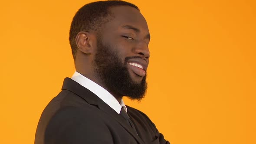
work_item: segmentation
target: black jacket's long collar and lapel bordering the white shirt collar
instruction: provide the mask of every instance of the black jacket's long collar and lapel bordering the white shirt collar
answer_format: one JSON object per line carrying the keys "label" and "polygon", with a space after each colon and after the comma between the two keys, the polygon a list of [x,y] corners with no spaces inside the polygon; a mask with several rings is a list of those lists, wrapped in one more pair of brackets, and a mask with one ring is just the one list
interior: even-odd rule
{"label": "black jacket's long collar and lapel bordering the white shirt collar", "polygon": [[122,118],[115,110],[113,110],[110,106],[108,106],[104,101],[98,98],[97,95],[89,91],[87,88],[83,87],[79,83],[73,81],[70,78],[65,78],[62,86],[62,90],[69,90],[79,97],[83,98],[91,105],[97,105],[98,108],[112,118],[114,118],[129,134],[131,134],[139,144],[144,144],[140,137],[131,129],[128,123]]}

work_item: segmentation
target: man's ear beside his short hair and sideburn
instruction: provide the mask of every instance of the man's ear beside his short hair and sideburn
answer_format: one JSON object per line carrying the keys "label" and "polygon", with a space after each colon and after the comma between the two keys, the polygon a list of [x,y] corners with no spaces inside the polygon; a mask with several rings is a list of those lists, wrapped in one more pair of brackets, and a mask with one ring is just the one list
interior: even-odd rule
{"label": "man's ear beside his short hair and sideburn", "polygon": [[79,32],[75,37],[76,46],[81,52],[87,55],[92,53],[91,40],[90,33],[84,31]]}

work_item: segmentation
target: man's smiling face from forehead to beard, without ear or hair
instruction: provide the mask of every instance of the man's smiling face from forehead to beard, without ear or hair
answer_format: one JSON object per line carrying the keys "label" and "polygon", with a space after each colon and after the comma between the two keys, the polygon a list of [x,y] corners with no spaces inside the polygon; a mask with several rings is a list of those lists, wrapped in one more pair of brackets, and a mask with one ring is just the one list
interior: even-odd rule
{"label": "man's smiling face from forehead to beard, without ear or hair", "polygon": [[95,74],[110,92],[143,98],[147,83],[150,35],[141,13],[133,7],[111,8],[114,18],[98,37]]}

